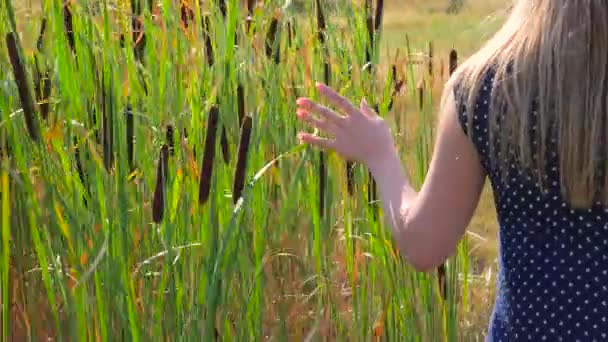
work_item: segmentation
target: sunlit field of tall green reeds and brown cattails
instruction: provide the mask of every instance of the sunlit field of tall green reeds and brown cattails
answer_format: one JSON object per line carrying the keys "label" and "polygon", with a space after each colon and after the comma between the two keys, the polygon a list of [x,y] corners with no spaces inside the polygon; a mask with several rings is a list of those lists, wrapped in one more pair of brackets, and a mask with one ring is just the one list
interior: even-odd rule
{"label": "sunlit field of tall green reeds and brown cattails", "polygon": [[365,96],[420,185],[450,52],[507,1],[1,1],[3,340],[483,340],[490,190],[445,275],[414,272],[295,100]]}

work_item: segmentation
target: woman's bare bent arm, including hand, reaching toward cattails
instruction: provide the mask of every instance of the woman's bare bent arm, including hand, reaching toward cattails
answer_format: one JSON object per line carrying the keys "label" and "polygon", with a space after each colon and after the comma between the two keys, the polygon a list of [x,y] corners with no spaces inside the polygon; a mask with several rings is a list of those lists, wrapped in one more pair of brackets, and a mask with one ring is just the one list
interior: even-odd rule
{"label": "woman's bare bent arm, including hand, reaching toward cattails", "polygon": [[[453,97],[440,109],[437,143],[420,192],[407,179],[386,123],[363,101],[356,108],[330,88],[321,94],[346,115],[308,99],[298,100],[300,119],[332,138],[300,139],[363,162],[376,180],[386,219],[401,254],[419,271],[434,269],[452,255],[479,202],[485,174],[462,131]],[[315,118],[309,113],[316,113]]]}

